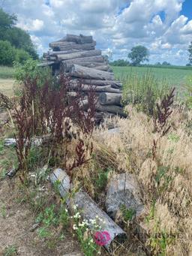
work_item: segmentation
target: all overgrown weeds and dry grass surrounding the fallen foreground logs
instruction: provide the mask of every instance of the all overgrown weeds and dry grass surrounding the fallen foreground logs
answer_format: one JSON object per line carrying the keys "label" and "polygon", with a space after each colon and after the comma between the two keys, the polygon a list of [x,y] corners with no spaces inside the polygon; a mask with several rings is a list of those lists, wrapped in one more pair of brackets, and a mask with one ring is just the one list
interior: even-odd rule
{"label": "all overgrown weeds and dry grass surrounding the fallen foreground logs", "polygon": [[[145,212],[138,217],[135,209],[121,205],[118,223],[127,230],[131,245],[114,242],[111,254],[134,253],[139,244],[147,254],[190,255],[192,113],[188,99],[175,103],[175,89],[170,90],[166,81],[162,85],[150,73],[142,78],[131,74],[124,84],[128,118],[110,120],[118,127],[112,134],[104,125],[95,127],[92,86],[85,113],[81,83],[72,98],[68,77],[52,77],[49,69],[39,69],[33,61],[17,65],[16,77],[17,96],[1,95],[1,108],[9,110],[5,126],[15,134],[17,146],[1,161],[1,168],[6,173],[19,167],[17,200],[27,202],[36,215],[38,238],[52,249],[70,230],[87,256],[109,254],[95,239],[101,230],[98,217],[90,220],[95,228],[89,230],[77,206],[70,207],[58,197],[60,184],[55,184],[53,194],[44,190],[49,189],[52,169],[62,167],[74,183],[71,194],[83,188],[104,209],[110,175],[129,172],[139,181]],[[6,151],[2,140],[0,154]],[[4,206],[1,215],[6,215]],[[145,227],[145,239],[138,236],[138,224]]]}

